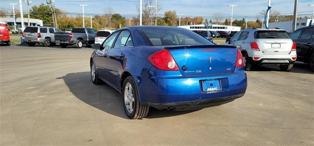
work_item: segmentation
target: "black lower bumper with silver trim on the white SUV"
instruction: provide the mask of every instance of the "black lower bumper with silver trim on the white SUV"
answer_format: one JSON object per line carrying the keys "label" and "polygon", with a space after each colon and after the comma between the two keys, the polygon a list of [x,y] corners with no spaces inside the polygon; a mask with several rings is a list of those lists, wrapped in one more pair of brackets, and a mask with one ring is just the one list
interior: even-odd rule
{"label": "black lower bumper with silver trim on the white SUV", "polygon": [[251,64],[293,64],[295,60],[291,58],[262,58],[259,60],[253,60],[252,57],[249,57]]}

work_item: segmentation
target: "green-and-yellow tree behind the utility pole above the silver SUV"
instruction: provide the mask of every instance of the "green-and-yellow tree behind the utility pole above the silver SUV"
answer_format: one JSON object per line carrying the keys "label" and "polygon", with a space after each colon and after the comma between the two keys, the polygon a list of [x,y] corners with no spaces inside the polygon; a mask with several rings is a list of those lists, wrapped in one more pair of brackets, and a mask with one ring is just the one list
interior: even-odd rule
{"label": "green-and-yellow tree behind the utility pole above the silver SUV", "polygon": [[[55,8],[55,13],[59,14],[60,10]],[[40,4],[39,6],[34,5],[30,9],[30,16],[29,17],[43,20],[43,24],[45,26],[53,26],[51,8],[49,5],[45,5],[44,3]],[[57,19],[57,21],[59,21],[59,19]]]}

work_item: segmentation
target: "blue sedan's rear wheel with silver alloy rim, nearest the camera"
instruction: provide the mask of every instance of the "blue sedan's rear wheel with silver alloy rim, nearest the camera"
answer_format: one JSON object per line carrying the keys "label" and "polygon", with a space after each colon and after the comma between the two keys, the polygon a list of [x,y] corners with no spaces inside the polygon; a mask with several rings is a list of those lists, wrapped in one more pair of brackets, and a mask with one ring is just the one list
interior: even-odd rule
{"label": "blue sedan's rear wheel with silver alloy rim, nearest the camera", "polygon": [[135,81],[128,76],[123,83],[123,105],[124,111],[130,119],[141,119],[147,116],[149,106],[141,106],[139,93]]}

